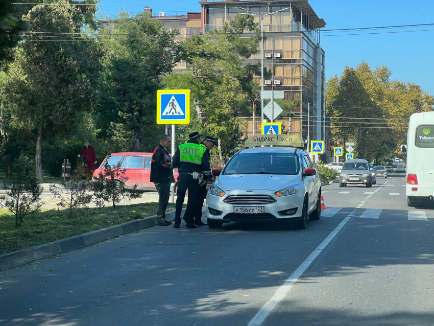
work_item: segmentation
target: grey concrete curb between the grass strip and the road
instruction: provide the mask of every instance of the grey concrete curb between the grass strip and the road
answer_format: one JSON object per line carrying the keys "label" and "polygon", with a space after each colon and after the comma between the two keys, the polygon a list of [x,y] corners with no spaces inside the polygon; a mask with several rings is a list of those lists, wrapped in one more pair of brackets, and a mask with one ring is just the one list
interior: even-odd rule
{"label": "grey concrete curb between the grass strip and the road", "polygon": [[[182,213],[183,212],[185,212],[185,208],[182,209]],[[167,220],[173,220],[174,218],[175,211],[166,213]],[[52,257],[59,253],[80,249],[91,244],[123,236],[156,224],[157,215],[154,215],[144,219],[128,221],[116,226],[90,231],[82,235],[44,243],[39,246],[8,252],[0,255],[0,271],[32,263],[47,257]]]}

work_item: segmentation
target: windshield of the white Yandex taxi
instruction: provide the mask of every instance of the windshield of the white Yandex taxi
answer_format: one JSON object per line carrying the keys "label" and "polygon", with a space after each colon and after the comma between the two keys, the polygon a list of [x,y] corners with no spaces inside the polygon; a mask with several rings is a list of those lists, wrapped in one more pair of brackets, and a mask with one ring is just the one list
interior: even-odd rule
{"label": "windshield of the white Yandex taxi", "polygon": [[292,153],[240,153],[226,165],[224,175],[298,174],[299,159]]}

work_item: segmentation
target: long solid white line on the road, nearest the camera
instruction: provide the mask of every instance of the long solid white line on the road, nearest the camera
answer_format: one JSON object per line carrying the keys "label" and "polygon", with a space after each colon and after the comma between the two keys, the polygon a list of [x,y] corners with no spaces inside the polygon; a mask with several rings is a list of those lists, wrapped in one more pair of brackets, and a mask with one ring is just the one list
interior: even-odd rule
{"label": "long solid white line on the road, nearest the camera", "polygon": [[274,308],[282,301],[286,294],[291,290],[294,284],[296,284],[299,277],[306,271],[312,262],[318,257],[318,255],[327,247],[327,245],[333,240],[344,225],[353,217],[355,209],[347,215],[347,217],[331,231],[327,238],[306,258],[306,260],[291,274],[290,277],[277,289],[276,293],[266,302],[265,305],[257,312],[257,314],[249,321],[247,326],[260,326],[272,313]]}

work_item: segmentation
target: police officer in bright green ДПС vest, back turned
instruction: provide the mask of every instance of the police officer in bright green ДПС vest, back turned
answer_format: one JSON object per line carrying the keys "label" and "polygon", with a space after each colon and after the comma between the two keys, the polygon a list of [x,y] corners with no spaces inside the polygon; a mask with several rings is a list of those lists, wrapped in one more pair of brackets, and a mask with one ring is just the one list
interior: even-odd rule
{"label": "police officer in bright green \u0414\u041f\u0421 vest, back turned", "polygon": [[200,144],[202,135],[195,131],[188,135],[189,141],[179,145],[173,157],[173,166],[178,168],[178,190],[176,193],[176,212],[174,227],[181,224],[181,211],[185,193],[188,190],[187,208],[184,213],[184,221],[187,228],[196,228],[194,224],[195,209],[199,198],[200,185],[206,184],[211,174],[208,155]]}

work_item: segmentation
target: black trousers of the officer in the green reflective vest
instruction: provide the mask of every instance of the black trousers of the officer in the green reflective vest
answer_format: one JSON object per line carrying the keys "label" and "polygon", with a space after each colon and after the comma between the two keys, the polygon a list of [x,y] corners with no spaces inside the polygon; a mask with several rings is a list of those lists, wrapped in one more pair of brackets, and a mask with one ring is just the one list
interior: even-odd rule
{"label": "black trousers of the officer in the green reflective vest", "polygon": [[185,209],[184,221],[187,225],[194,224],[195,209],[199,194],[199,180],[193,179],[190,174],[180,174],[178,177],[178,190],[176,192],[175,224],[181,224],[181,211],[184,204],[185,193],[188,190],[187,208]]}

